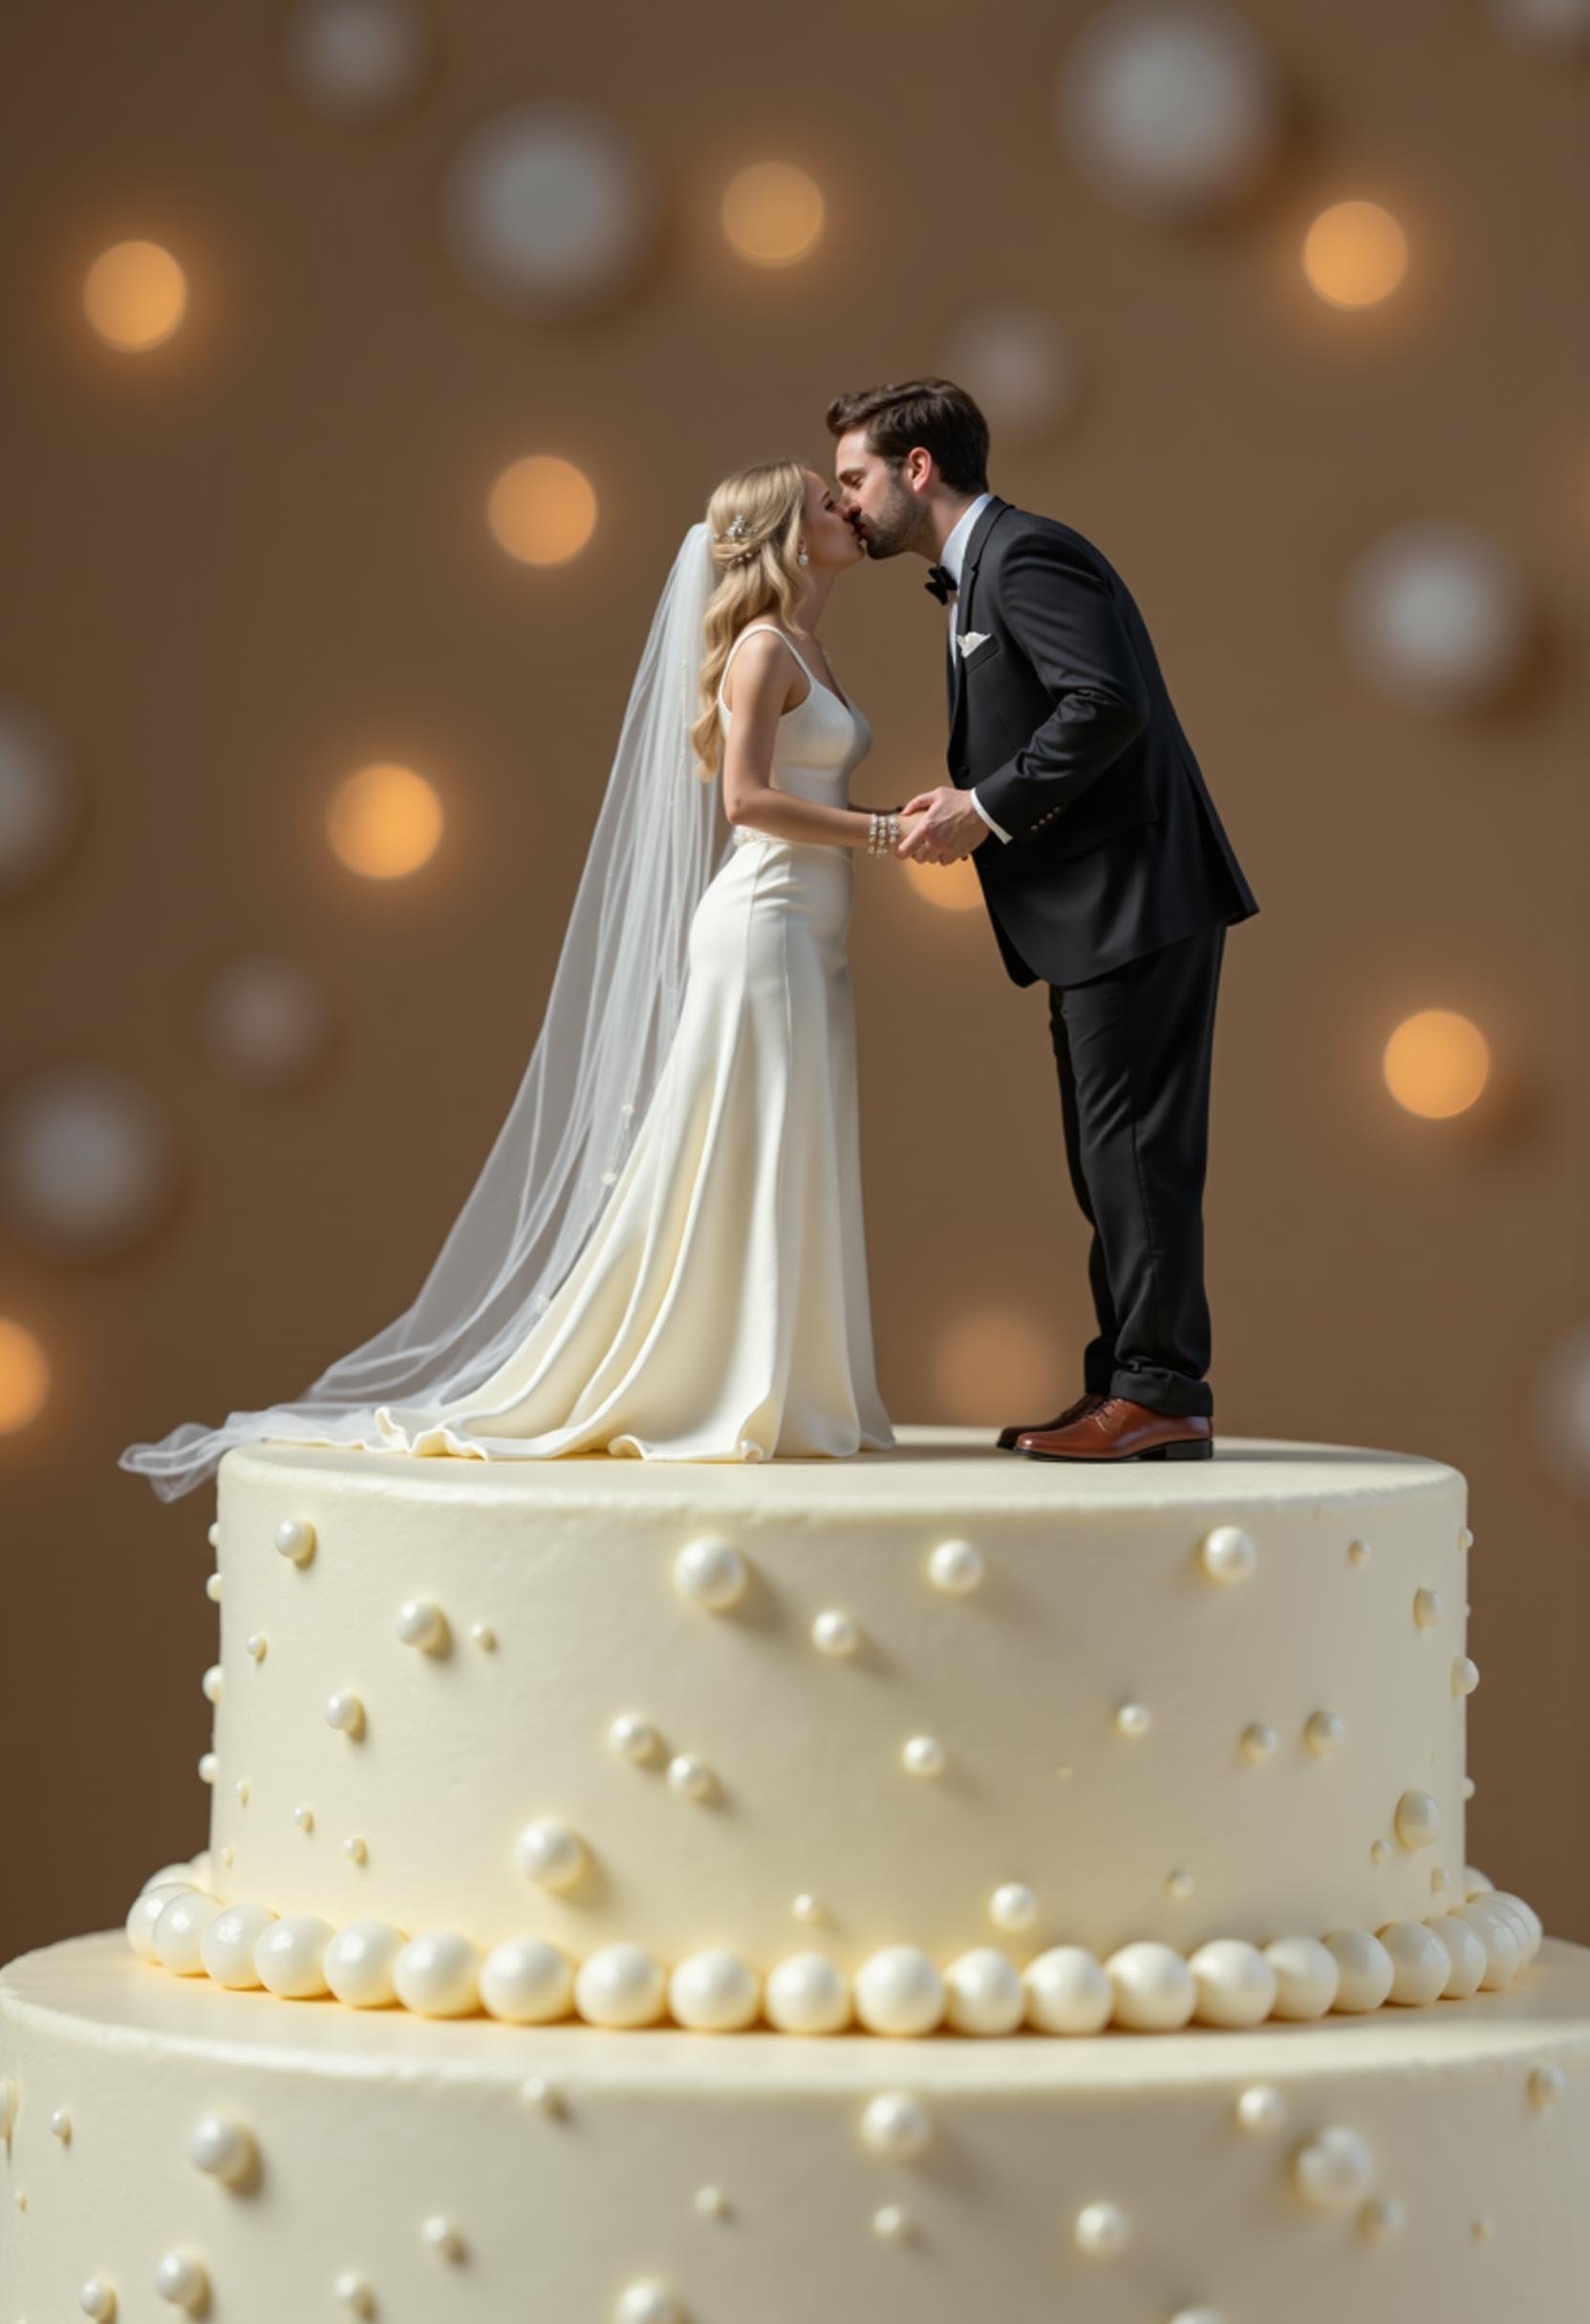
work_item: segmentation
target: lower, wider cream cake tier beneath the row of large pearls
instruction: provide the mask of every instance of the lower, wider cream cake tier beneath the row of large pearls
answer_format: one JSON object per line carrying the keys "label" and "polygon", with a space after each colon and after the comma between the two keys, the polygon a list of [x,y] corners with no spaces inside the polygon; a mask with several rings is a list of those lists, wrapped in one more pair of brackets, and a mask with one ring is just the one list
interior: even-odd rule
{"label": "lower, wider cream cake tier beneath the row of large pearls", "polygon": [[0,2324],[1571,2324],[1590,1950],[1253,2031],[356,2015],[0,1971]]}

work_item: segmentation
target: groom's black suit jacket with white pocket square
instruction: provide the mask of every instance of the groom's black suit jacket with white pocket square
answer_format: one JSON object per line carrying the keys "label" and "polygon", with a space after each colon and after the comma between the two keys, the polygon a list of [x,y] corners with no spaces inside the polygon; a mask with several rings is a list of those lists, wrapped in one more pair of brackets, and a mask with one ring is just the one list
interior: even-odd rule
{"label": "groom's black suit jacket with white pocket square", "polygon": [[1132,593],[997,495],[960,567],[948,769],[1011,837],[972,853],[1018,985],[1083,983],[1258,911]]}

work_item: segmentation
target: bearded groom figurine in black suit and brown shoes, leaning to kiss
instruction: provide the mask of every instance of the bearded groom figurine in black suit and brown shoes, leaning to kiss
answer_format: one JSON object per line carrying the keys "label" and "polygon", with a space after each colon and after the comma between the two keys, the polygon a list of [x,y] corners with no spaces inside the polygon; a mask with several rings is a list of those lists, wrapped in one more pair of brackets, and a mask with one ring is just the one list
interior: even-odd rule
{"label": "bearded groom figurine in black suit and brown shoes, leaning to kiss", "polygon": [[1072,1190],[1093,1227],[1083,1394],[1000,1432],[1037,1459],[1213,1452],[1204,1167],[1225,930],[1258,904],[1120,574],[988,490],[948,379],[839,395],[837,497],[872,558],[948,607],[951,783],[900,853],[972,855],[1004,964],[1048,983]]}

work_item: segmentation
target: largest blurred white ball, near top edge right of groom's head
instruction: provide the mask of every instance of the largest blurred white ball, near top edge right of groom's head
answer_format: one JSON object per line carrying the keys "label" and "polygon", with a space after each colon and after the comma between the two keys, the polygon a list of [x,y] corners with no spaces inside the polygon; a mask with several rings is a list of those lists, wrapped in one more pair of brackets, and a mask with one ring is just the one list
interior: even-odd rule
{"label": "largest blurred white ball, near top edge right of groom's head", "polygon": [[1111,0],[1072,40],[1062,144],[1088,184],[1151,216],[1209,216],[1248,195],[1281,144],[1269,51],[1223,0]]}

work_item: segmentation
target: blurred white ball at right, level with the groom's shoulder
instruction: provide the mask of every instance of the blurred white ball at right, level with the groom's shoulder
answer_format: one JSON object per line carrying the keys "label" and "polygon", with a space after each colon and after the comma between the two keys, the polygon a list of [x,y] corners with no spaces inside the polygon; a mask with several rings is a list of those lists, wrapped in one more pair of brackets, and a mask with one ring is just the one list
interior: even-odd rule
{"label": "blurred white ball at right, level with the groom's shoulder", "polygon": [[1423,711],[1474,709],[1523,667],[1530,597],[1488,532],[1427,518],[1362,551],[1341,595],[1341,639],[1378,693]]}

